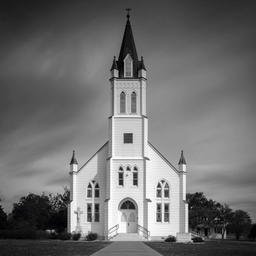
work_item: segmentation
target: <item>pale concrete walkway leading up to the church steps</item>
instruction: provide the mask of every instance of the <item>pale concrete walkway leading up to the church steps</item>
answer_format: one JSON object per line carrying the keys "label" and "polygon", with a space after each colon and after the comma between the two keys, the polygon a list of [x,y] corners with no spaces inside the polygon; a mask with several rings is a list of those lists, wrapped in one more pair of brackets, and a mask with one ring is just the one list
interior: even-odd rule
{"label": "pale concrete walkway leading up to the church steps", "polygon": [[92,256],[161,256],[162,254],[146,246],[142,242],[114,242],[103,249],[95,252]]}

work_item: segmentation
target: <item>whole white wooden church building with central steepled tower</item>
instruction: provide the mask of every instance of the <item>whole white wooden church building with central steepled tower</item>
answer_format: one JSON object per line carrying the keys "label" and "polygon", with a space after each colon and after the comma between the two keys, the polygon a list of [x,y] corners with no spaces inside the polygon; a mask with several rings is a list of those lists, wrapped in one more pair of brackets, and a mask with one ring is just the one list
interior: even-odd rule
{"label": "whole white wooden church building with central steepled tower", "polygon": [[109,140],[81,167],[71,159],[68,231],[163,239],[188,232],[186,162],[182,152],[176,168],[147,140],[146,69],[129,17],[110,71]]}

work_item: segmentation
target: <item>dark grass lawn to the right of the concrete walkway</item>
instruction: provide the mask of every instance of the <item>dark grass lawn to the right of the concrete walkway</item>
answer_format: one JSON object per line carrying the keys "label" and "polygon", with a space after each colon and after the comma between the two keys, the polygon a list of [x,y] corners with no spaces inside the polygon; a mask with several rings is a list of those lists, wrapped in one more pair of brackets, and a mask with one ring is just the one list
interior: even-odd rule
{"label": "dark grass lawn to the right of the concrete walkway", "polygon": [[256,242],[209,240],[203,244],[145,242],[162,255],[256,255]]}

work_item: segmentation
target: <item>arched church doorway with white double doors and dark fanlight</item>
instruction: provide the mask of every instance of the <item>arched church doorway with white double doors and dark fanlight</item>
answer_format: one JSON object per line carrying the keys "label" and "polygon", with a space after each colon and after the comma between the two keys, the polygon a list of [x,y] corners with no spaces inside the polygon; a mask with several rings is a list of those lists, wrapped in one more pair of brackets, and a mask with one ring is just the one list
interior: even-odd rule
{"label": "arched church doorway with white double doors and dark fanlight", "polygon": [[119,204],[119,233],[136,233],[138,223],[137,204],[125,199]]}

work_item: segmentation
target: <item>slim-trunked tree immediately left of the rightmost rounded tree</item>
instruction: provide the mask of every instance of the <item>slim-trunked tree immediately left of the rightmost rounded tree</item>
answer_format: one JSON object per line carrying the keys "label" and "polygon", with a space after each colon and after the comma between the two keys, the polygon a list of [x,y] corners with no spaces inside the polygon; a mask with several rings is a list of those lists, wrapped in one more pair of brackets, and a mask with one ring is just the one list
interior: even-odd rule
{"label": "slim-trunked tree immediately left of the rightmost rounded tree", "polygon": [[225,231],[227,230],[227,225],[231,223],[233,217],[233,211],[227,204],[219,204],[216,209],[216,219],[215,223],[220,227],[222,239],[224,239]]}

